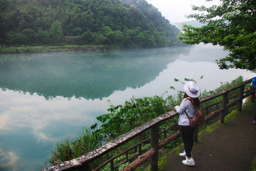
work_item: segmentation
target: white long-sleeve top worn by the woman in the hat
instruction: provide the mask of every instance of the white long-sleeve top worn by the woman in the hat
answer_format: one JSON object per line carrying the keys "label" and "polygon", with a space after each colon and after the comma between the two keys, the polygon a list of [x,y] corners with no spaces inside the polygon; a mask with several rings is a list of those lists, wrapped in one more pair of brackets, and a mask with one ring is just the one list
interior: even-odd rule
{"label": "white long-sleeve top worn by the woman in the hat", "polygon": [[[181,101],[181,105],[175,106],[174,109],[178,112],[178,114],[180,114],[178,118],[178,125],[189,126],[188,117],[192,118],[196,112],[196,109],[193,108],[193,104],[191,104],[191,101],[185,98]],[[188,116],[186,116],[185,110]]]}

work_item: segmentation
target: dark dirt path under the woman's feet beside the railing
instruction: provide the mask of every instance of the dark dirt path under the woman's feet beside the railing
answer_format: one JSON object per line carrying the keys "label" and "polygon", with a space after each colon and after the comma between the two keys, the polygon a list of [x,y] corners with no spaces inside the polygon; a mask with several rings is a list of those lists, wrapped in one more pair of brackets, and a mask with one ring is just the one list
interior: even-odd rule
{"label": "dark dirt path under the woman's feet beside the railing", "polygon": [[192,151],[196,166],[184,166],[180,151],[176,151],[167,155],[163,170],[251,170],[256,155],[256,125],[252,124],[255,110],[256,102],[250,103],[235,118],[218,124],[210,133],[202,133]]}

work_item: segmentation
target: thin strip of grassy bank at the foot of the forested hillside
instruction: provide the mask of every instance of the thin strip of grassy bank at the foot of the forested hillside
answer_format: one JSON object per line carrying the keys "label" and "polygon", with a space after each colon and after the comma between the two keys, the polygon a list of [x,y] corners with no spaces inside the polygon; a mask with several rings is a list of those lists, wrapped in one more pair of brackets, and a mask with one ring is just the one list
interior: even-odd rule
{"label": "thin strip of grassy bank at the foot of the forested hillside", "polygon": [[97,51],[97,50],[110,50],[109,46],[105,45],[41,45],[41,46],[28,46],[22,45],[19,47],[1,47],[0,53],[46,53],[46,52],[61,52],[61,51]]}

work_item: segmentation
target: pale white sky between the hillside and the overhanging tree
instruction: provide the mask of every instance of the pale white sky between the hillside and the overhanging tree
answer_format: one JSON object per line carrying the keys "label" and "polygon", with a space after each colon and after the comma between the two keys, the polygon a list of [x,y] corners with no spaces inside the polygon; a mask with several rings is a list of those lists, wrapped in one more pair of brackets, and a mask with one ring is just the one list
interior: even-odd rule
{"label": "pale white sky between the hillside and the overhanging tree", "polygon": [[206,0],[146,0],[149,4],[155,6],[171,23],[191,21],[185,16],[191,13],[196,13],[192,10],[191,5],[195,6],[213,6],[219,5],[220,0],[206,1]]}

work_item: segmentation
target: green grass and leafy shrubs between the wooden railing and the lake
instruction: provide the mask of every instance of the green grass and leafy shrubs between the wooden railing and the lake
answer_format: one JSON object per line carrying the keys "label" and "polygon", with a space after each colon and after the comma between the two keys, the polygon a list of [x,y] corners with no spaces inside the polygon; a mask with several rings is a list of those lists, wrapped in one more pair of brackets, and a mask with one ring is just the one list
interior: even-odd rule
{"label": "green grass and leafy shrubs between the wooden railing and the lake", "polygon": [[[188,79],[185,79],[185,81],[186,80]],[[243,77],[240,76],[237,79],[234,79],[232,82],[223,82],[220,87],[216,88],[215,90],[201,92],[200,97],[203,98],[204,96],[215,94],[224,89],[228,89],[229,87],[234,87],[236,84],[240,84],[243,81]],[[183,84],[183,82],[181,82],[181,84]],[[171,89],[174,89],[174,87],[171,87]],[[237,91],[239,91],[239,89]],[[229,94],[229,96],[233,95],[234,94]],[[205,104],[203,104],[203,106],[221,101],[221,98],[222,97],[220,96],[212,101],[207,101]],[[84,155],[91,150],[100,147],[103,143],[117,138],[123,133],[131,131],[133,128],[142,125],[146,121],[149,121],[157,116],[161,116],[162,114],[165,114],[166,111],[171,111],[174,109],[174,106],[181,103],[182,99],[183,92],[177,92],[175,96],[168,96],[166,99],[164,99],[162,96],[144,98],[133,97],[132,99],[125,101],[124,104],[117,106],[110,105],[110,108],[107,109],[109,112],[108,114],[97,116],[97,121],[100,123],[99,126],[98,123],[95,123],[90,128],[85,128],[82,136],[73,142],[70,142],[70,140],[65,140],[62,143],[58,143],[55,150],[50,155],[48,163],[50,165],[57,165],[60,162],[78,158],[80,155]],[[201,108],[203,106],[201,106]],[[215,106],[213,106],[209,112],[214,110]],[[169,123],[163,124],[161,129],[167,128],[176,121],[178,121],[178,116],[172,121],[169,121]],[[171,134],[171,132],[169,134]],[[130,141],[125,146],[133,145],[147,136],[149,136],[149,133],[144,133],[142,136],[139,136],[136,140]],[[176,142],[174,142],[174,144],[170,143],[169,145],[175,146]],[[107,156],[95,160],[90,164],[91,167],[97,167],[100,165],[101,160],[105,160],[106,158],[110,158],[110,156],[117,155],[123,149],[124,147],[118,148]],[[120,158],[122,158],[122,156]],[[110,166],[107,165],[105,170],[109,169]]]}

